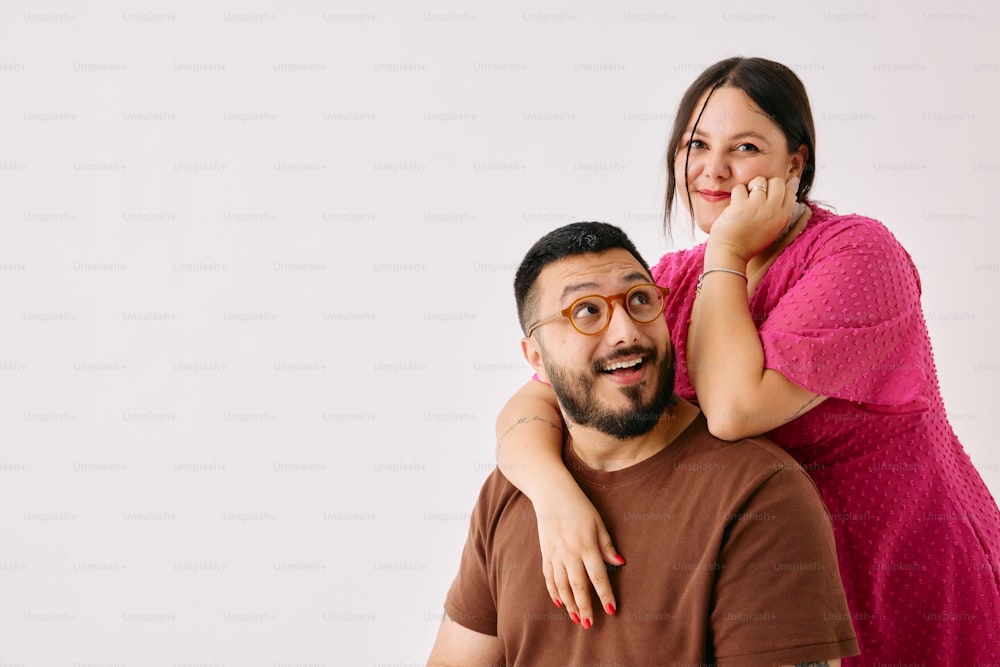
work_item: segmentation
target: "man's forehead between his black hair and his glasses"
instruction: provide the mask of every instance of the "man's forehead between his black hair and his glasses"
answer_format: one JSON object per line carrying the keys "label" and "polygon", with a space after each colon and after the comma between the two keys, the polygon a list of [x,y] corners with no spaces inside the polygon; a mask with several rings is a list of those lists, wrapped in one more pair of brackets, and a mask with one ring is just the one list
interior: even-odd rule
{"label": "man's forehead between his black hair and his glasses", "polygon": [[649,273],[632,253],[613,248],[600,253],[563,257],[542,269],[539,283],[546,300],[616,289],[649,282]]}

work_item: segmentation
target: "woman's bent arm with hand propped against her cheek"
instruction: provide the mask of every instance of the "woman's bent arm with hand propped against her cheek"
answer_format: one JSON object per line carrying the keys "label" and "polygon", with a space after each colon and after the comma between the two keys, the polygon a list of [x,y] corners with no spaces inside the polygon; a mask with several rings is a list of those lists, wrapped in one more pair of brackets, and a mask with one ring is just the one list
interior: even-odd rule
{"label": "woman's bent arm with hand propped against her cheek", "polygon": [[[756,179],[755,179],[756,181]],[[751,181],[754,183],[755,181]],[[712,225],[704,270],[746,273],[791,216],[798,180],[772,178],[767,197],[752,201],[733,189],[729,208]],[[764,348],[750,315],[747,284],[726,271],[704,275],[688,331],[688,373],[709,430],[725,440],[766,433],[826,400],[764,368]]]}

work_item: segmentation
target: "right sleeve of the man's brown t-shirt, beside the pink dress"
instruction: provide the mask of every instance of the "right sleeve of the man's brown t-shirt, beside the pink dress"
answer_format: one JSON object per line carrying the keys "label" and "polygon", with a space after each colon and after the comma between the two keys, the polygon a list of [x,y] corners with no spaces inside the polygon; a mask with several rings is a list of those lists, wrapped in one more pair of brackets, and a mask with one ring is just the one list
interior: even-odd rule
{"label": "right sleeve of the man's brown t-shirt, beside the pink dress", "polygon": [[748,498],[719,565],[711,633],[720,667],[858,653],[830,517],[801,469],[780,468]]}

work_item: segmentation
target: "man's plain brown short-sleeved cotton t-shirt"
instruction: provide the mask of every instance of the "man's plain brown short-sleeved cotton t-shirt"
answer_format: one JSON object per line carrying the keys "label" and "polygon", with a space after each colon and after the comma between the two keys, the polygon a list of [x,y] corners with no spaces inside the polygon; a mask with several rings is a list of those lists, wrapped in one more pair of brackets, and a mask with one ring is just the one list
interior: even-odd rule
{"label": "man's plain brown short-sleeved cotton t-shirt", "polygon": [[507,665],[759,667],[857,654],[829,515],[769,441],[719,440],[699,417],[624,470],[593,470],[569,449],[564,459],[627,559],[609,567],[618,610],[596,612],[592,593],[584,630],[556,609],[531,502],[494,472],[445,610],[498,636]]}

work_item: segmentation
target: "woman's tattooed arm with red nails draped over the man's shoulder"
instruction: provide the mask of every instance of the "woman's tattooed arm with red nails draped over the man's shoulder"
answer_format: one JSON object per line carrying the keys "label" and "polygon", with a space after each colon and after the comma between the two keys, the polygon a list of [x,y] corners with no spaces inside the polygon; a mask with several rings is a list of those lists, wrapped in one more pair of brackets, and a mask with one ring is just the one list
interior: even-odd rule
{"label": "woman's tattooed arm with red nails draped over the man's shoulder", "polygon": [[[535,380],[521,387],[497,418],[497,465],[535,507],[545,586],[574,622],[594,621],[593,584],[601,607],[616,608],[604,561],[621,565],[604,521],[562,460],[563,421],[552,389]],[[589,581],[588,581],[589,580]]]}

